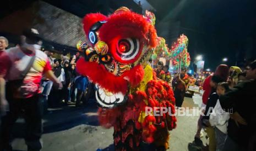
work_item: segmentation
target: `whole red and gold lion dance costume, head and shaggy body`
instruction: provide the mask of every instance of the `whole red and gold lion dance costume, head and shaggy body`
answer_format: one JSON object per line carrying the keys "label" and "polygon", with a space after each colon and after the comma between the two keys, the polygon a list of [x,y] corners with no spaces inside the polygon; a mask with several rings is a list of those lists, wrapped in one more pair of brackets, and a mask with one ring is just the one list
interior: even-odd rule
{"label": "whole red and gold lion dance costume, head and shaggy body", "polygon": [[115,150],[141,150],[143,144],[167,149],[175,116],[145,114],[146,107],[170,107],[175,113],[172,88],[147,62],[157,46],[150,18],[122,7],[110,16],[85,15],[83,24],[90,43],[78,44],[84,58],[77,71],[96,85],[99,121],[113,126]]}

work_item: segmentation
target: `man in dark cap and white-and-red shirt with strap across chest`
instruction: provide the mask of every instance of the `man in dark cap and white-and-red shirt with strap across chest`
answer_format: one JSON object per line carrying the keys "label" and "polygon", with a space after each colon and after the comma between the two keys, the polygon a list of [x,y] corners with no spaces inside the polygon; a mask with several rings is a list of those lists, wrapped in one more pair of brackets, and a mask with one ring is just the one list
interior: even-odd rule
{"label": "man in dark cap and white-and-red shirt with strap across chest", "polygon": [[6,50],[11,62],[5,90],[9,112],[2,118],[0,150],[12,150],[10,132],[21,111],[26,122],[28,150],[42,148],[42,106],[39,101],[42,74],[45,73],[60,88],[62,83],[53,74],[47,55],[40,51],[41,44],[39,32],[31,28],[23,31],[20,45]]}

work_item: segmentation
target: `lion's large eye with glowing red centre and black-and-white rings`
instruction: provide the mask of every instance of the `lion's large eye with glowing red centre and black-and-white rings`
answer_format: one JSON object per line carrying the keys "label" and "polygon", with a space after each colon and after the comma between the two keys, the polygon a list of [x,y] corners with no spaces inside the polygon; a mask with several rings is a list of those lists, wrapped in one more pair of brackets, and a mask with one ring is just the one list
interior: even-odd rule
{"label": "lion's large eye with glowing red centre and black-and-white rings", "polygon": [[132,38],[120,39],[116,49],[118,56],[121,57],[122,60],[132,60],[139,53],[139,40]]}

